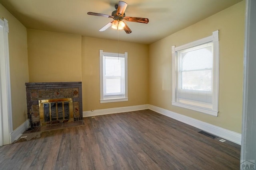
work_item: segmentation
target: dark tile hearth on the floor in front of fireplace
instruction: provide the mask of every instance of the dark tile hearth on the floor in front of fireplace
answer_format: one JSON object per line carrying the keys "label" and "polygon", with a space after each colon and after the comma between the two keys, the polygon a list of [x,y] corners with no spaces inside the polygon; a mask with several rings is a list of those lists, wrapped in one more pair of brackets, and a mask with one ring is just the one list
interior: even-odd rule
{"label": "dark tile hearth on the floor in front of fireplace", "polygon": [[64,129],[64,128],[68,128],[68,127],[75,127],[75,126],[81,126],[81,125],[84,125],[83,120],[73,121],[73,122],[65,122],[65,123],[56,123],[56,124],[52,124],[52,125],[34,127],[31,130],[24,131],[23,134],[34,133],[34,132],[43,132],[43,131],[52,131],[52,130],[56,130],[56,129]]}

